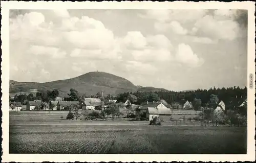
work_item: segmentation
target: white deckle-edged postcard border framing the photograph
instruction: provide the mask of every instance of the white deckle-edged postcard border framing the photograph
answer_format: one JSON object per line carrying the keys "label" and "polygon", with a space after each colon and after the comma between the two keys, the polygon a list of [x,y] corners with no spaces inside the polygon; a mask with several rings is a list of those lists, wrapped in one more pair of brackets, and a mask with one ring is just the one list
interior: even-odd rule
{"label": "white deckle-edged postcard border framing the photograph", "polygon": [[[247,154],[9,154],[9,10],[10,9],[246,9],[248,10],[248,79],[253,74],[255,80],[255,16],[254,2],[1,2],[2,7],[2,148],[3,162],[41,162],[41,161],[122,161],[122,162],[152,162],[152,161],[253,161],[255,160],[255,83],[248,88],[248,135]],[[248,80],[249,85],[249,80]],[[235,143],[235,142],[234,142]]]}

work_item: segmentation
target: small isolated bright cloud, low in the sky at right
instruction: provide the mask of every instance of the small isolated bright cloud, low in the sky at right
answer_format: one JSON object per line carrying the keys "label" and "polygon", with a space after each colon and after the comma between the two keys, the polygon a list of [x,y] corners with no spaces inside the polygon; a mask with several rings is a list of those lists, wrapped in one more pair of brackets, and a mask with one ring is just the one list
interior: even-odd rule
{"label": "small isolated bright cloud, low in the sky at right", "polygon": [[197,56],[187,44],[181,43],[178,45],[176,53],[177,61],[192,67],[201,66],[204,60]]}

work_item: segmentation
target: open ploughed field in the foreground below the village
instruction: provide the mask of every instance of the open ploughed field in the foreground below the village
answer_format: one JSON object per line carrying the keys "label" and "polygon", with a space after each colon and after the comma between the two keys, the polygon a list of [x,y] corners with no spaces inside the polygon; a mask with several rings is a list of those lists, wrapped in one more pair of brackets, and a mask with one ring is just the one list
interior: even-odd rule
{"label": "open ploughed field in the foreground below the village", "polygon": [[68,121],[67,112],[10,115],[10,153],[244,154],[246,128],[198,122]]}

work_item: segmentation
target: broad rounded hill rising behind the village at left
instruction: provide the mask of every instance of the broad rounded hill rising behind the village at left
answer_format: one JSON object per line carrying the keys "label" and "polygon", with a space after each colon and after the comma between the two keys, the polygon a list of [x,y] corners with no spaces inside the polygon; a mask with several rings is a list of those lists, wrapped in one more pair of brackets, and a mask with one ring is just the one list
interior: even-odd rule
{"label": "broad rounded hill rising behind the village at left", "polygon": [[124,78],[104,72],[90,72],[75,78],[57,80],[46,83],[16,82],[10,80],[10,93],[26,92],[30,89],[52,90],[58,89],[60,96],[67,96],[70,88],[76,89],[80,94],[95,95],[103,91],[106,94],[116,95],[120,92],[136,91],[137,87]]}

